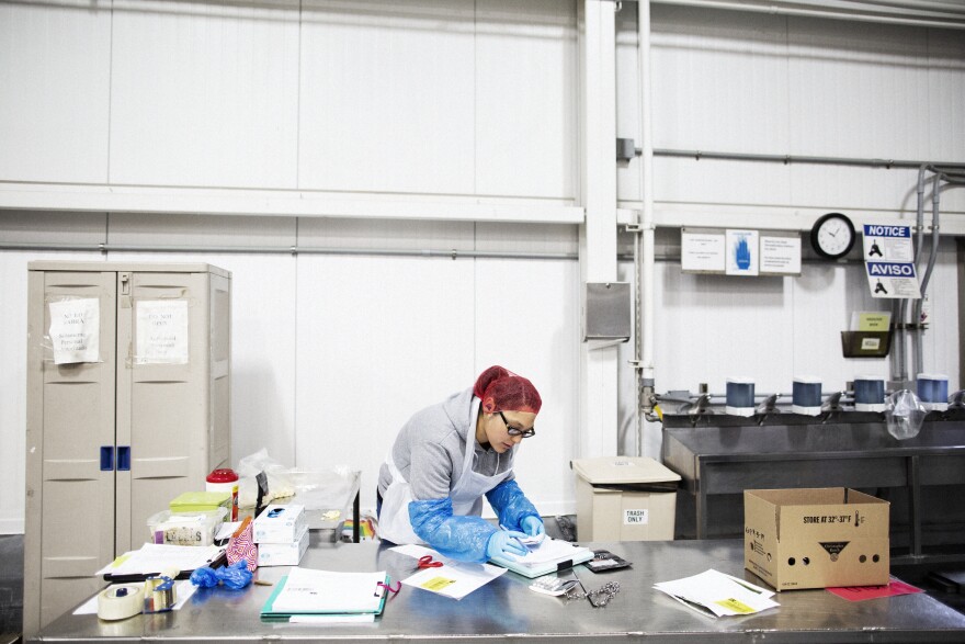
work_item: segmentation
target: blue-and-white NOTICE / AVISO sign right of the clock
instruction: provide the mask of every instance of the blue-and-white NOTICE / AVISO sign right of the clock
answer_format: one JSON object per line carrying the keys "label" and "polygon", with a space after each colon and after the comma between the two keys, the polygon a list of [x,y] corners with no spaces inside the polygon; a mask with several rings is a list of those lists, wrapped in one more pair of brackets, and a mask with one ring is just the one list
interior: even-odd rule
{"label": "blue-and-white NOTICE / AVISO sign right of the clock", "polygon": [[910,226],[864,225],[864,267],[872,297],[921,297]]}

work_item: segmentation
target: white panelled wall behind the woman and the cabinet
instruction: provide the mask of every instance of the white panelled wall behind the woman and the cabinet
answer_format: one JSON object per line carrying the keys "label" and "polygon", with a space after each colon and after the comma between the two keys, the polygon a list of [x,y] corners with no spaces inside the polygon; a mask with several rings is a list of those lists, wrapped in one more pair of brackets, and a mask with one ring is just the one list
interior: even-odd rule
{"label": "white panelled wall behind the woman and the cabinet", "polygon": [[[635,10],[615,16],[616,123],[639,139]],[[575,256],[577,13],[557,0],[0,4],[0,87],[15,88],[0,92],[0,241]],[[663,4],[652,22],[656,148],[965,159],[961,31]],[[635,163],[616,168],[626,210],[639,199]],[[661,157],[655,170],[661,227],[913,216],[905,170]],[[965,195],[944,204],[961,216]],[[197,214],[223,212],[270,216]],[[0,531],[22,530],[25,267],[49,258],[231,270],[235,457],[266,447],[303,467],[351,463],[363,505],[405,418],[504,362],[546,399],[520,479],[544,512],[574,509],[572,259],[3,250],[0,440],[12,449],[0,455]],[[633,279],[627,262],[621,274]],[[926,364],[955,386],[951,240],[932,284]],[[655,291],[658,391],[719,389],[730,373],[770,391],[796,373],[827,388],[887,373],[837,344],[853,310],[882,308],[859,267],[738,280],[661,261]],[[623,347],[626,453],[631,358]],[[658,434],[647,428],[647,453]]]}

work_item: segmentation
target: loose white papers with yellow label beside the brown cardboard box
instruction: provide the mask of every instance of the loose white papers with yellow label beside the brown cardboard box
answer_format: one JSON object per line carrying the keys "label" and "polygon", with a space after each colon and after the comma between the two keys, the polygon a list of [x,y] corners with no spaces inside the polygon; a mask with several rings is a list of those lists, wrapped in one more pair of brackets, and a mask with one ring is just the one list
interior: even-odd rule
{"label": "loose white papers with yellow label beside the brown cardboard box", "polygon": [[774,596],[771,590],[717,570],[662,581],[654,588],[697,612],[714,617],[751,614],[780,606],[771,599]]}

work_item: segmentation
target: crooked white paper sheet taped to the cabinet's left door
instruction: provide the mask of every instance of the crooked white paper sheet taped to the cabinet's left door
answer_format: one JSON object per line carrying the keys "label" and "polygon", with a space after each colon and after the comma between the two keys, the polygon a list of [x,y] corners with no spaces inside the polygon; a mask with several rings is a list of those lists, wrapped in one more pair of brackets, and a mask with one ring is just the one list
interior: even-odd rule
{"label": "crooked white paper sheet taped to the cabinet's left door", "polygon": [[52,302],[50,344],[54,364],[100,360],[101,307],[96,297]]}

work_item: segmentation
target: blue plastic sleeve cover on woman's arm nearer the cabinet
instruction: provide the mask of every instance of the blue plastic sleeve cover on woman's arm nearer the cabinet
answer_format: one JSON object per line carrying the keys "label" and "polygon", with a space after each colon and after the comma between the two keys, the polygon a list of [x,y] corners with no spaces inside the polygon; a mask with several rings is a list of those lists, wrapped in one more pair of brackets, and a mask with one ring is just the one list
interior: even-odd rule
{"label": "blue plastic sleeve cover on woman's arm nearer the cabinet", "polygon": [[409,521],[419,539],[443,556],[475,564],[489,560],[486,546],[496,528],[481,517],[454,517],[449,497],[411,501]]}

